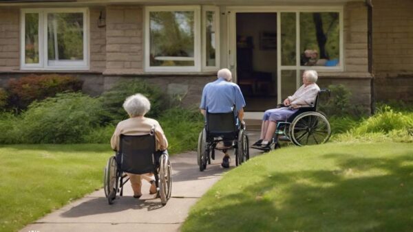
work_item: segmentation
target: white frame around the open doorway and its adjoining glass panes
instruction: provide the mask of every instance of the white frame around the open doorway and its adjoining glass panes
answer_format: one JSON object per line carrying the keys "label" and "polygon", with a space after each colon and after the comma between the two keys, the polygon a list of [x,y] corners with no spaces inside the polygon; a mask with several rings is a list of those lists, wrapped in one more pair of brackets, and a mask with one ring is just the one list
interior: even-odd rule
{"label": "white frame around the open doorway and its adjoining glass panes", "polygon": [[[343,5],[319,5],[319,6],[227,6],[225,12],[227,13],[227,64],[233,73],[233,80],[237,82],[237,13],[276,13],[277,14],[277,103],[281,103],[281,73],[282,70],[296,70],[296,87],[300,86],[301,71],[306,69],[315,69],[316,71],[344,71],[344,49],[343,49]],[[295,12],[296,16],[296,65],[282,66],[281,65],[281,14],[282,12]],[[339,51],[340,51],[340,67],[301,67],[299,57],[299,12],[339,12]]]}

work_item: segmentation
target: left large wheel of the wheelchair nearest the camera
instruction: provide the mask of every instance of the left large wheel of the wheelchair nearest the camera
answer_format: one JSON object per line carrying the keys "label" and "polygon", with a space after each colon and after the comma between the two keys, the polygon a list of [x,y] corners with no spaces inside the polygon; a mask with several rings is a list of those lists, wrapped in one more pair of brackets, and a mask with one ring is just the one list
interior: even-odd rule
{"label": "left large wheel of the wheelchair nearest the camera", "polygon": [[105,167],[103,175],[103,189],[109,205],[112,205],[116,198],[116,190],[118,189],[118,167],[116,165],[116,157],[111,156]]}

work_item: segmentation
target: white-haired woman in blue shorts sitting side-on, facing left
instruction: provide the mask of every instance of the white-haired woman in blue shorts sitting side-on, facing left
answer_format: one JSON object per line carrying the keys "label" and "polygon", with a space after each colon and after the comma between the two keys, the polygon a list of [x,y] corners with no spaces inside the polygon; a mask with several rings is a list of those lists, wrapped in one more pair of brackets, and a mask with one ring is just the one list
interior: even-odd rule
{"label": "white-haired woman in blue shorts sitting side-on, facing left", "polygon": [[284,100],[284,107],[273,108],[265,111],[262,117],[260,140],[256,141],[252,148],[260,150],[270,150],[271,141],[275,130],[277,129],[277,121],[286,121],[288,117],[298,111],[301,106],[309,106],[313,104],[320,88],[317,82],[317,71],[306,70],[303,73],[303,85],[299,87],[295,93]]}

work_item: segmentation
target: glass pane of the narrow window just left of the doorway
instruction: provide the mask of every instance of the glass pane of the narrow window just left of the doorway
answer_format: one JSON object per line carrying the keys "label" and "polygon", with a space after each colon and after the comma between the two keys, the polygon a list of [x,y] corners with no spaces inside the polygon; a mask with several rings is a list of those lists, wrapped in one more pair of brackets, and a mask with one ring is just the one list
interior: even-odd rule
{"label": "glass pane of the narrow window just left of the doorway", "polygon": [[215,12],[207,11],[205,24],[207,27],[207,38],[205,38],[207,66],[215,66]]}

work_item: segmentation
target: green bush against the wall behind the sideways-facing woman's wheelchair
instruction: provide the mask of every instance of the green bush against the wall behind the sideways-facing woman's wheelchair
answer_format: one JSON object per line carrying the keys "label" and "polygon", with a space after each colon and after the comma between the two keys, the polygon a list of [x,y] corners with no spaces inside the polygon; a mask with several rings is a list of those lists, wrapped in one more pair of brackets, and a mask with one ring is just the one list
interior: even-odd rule
{"label": "green bush against the wall behind the sideways-facing woman's wheelchair", "polygon": [[330,116],[357,116],[361,114],[358,106],[350,104],[351,92],[343,84],[330,84],[330,97],[326,94],[320,95],[319,110]]}

